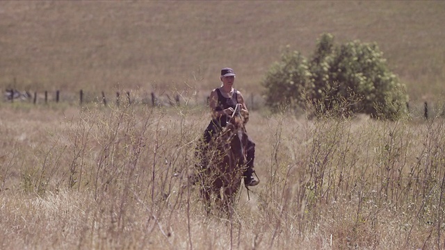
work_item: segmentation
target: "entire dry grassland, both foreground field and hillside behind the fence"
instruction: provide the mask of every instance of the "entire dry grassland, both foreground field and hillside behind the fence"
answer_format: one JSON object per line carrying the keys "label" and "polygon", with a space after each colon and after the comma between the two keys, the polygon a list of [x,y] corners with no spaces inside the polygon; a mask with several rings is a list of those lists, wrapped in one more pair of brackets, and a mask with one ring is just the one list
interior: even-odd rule
{"label": "entire dry grassland, both foreground field and hillside behind the fence", "polygon": [[[444,249],[445,121],[253,110],[261,183],[231,219],[186,185],[218,86],[261,94],[282,49],[378,42],[442,107],[442,1],[2,1],[0,85],[179,93],[181,106],[0,102],[0,249]],[[63,96],[65,97],[65,96]],[[439,101],[437,101],[439,100]],[[421,108],[417,108],[421,113]]]}

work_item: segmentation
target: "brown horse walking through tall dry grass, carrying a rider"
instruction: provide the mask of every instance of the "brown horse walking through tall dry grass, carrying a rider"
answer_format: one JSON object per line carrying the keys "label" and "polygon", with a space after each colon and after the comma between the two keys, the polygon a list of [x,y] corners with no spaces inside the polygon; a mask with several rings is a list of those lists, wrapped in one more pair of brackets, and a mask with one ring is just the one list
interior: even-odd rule
{"label": "brown horse walking through tall dry grass, carrying a rider", "polygon": [[211,194],[216,195],[216,206],[232,215],[234,199],[241,186],[245,167],[245,146],[248,136],[243,119],[231,117],[223,131],[209,144],[209,166],[204,174],[201,194],[207,208],[211,209]]}

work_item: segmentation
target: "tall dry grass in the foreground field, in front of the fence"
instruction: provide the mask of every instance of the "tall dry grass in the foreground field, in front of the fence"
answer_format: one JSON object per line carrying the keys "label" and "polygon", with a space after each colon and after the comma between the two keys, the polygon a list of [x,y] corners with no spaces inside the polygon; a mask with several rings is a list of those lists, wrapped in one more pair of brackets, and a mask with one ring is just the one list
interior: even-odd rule
{"label": "tall dry grass in the foreground field, in front of the fence", "polygon": [[3,249],[442,249],[442,118],[250,115],[233,219],[185,185],[207,110],[0,108]]}

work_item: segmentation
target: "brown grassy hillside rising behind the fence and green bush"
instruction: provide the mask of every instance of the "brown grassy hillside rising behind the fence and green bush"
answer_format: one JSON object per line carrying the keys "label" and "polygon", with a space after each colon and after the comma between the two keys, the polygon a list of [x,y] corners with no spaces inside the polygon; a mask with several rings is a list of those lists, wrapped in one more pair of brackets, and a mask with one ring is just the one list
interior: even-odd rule
{"label": "brown grassy hillside rising behind the fence and green bush", "polygon": [[0,85],[31,91],[184,88],[221,67],[259,94],[289,44],[377,42],[411,99],[442,94],[443,1],[2,1]]}

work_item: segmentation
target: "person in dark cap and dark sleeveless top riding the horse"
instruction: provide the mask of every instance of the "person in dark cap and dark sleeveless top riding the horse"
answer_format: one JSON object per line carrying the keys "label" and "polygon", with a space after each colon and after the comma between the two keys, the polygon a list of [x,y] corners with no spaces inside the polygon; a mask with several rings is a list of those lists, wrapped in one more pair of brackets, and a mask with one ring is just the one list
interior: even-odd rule
{"label": "person in dark cap and dark sleeveless top riding the horse", "polygon": [[[220,88],[216,88],[211,91],[209,98],[209,106],[211,109],[211,122],[204,131],[202,142],[198,147],[198,153],[201,153],[201,167],[205,169],[207,162],[205,158],[205,152],[209,147],[209,142],[213,135],[216,135],[221,128],[227,125],[227,120],[230,118],[236,104],[241,104],[241,113],[248,114],[248,108],[245,106],[243,95],[238,90],[235,90],[232,86],[235,81],[235,72],[233,69],[225,67],[221,69],[220,80],[223,82]],[[243,172],[244,185],[254,186],[258,185],[259,181],[252,175],[254,173],[254,157],[255,157],[255,143],[248,138],[247,143],[247,164],[246,169]]]}

